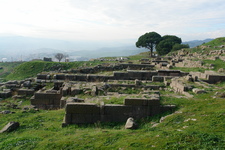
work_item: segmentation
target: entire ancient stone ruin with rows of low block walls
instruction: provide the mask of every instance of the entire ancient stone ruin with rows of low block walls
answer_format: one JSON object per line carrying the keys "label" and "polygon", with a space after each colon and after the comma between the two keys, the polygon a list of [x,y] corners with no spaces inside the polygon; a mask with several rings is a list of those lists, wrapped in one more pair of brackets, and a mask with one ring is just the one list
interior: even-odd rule
{"label": "entire ancient stone ruin with rows of low block walls", "polygon": [[[63,126],[95,122],[126,122],[174,110],[175,106],[160,104],[160,90],[170,87],[174,92],[193,97],[203,89],[193,88],[192,83],[214,84],[225,81],[219,72],[182,72],[173,67],[207,68],[201,61],[191,61],[186,53],[179,57],[142,59],[140,64],[118,63],[68,71],[43,72],[37,78],[1,83],[0,98],[14,95],[31,96],[31,105],[40,109],[65,109]],[[111,72],[110,75],[102,72]],[[201,81],[201,83],[200,83]],[[53,83],[52,88],[46,85]],[[122,91],[139,91],[124,94]],[[80,98],[79,94],[91,98]],[[123,104],[107,104],[104,98],[124,96]],[[95,102],[93,102],[95,101]]]}

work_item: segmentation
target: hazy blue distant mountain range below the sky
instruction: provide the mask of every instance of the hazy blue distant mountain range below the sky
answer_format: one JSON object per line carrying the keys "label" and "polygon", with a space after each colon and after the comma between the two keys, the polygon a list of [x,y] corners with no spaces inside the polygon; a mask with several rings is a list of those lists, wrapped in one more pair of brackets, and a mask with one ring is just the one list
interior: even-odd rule
{"label": "hazy blue distant mountain range below the sky", "polygon": [[[201,45],[213,39],[183,42],[190,47]],[[30,61],[54,58],[56,53],[63,53],[71,60],[89,60],[99,57],[117,57],[135,55],[147,49],[137,48],[136,39],[120,41],[65,41],[55,39],[30,38],[22,36],[0,37],[0,60]]]}

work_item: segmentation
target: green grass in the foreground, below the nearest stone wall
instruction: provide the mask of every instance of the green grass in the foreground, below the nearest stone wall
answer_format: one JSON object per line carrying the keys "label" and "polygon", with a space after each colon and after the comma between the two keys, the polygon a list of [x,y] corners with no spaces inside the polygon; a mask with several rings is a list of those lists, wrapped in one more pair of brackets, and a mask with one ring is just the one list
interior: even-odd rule
{"label": "green grass in the foreground, below the nearest stone wall", "polygon": [[[135,57],[143,56],[132,59]],[[125,130],[124,124],[116,123],[61,128],[63,109],[28,113],[12,110],[16,113],[0,114],[0,129],[9,121],[19,121],[21,127],[0,134],[0,149],[224,149],[225,101],[211,97],[224,91],[223,83],[218,86],[219,89],[209,87],[208,93],[192,99],[175,98],[162,91],[161,103],[177,105],[180,113],[154,128],[153,122],[159,122],[166,114],[139,120],[137,130]],[[1,104],[9,102],[16,103],[8,99]],[[28,104],[29,100],[23,99],[23,105]],[[0,105],[0,111],[4,109]]]}

